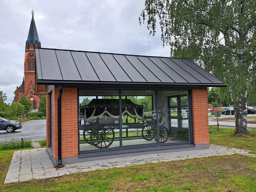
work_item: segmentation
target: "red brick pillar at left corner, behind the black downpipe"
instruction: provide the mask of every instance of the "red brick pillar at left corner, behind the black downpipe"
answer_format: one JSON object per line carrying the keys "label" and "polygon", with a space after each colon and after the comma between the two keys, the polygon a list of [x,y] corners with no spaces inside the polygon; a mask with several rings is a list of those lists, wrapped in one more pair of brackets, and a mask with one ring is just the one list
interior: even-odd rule
{"label": "red brick pillar at left corner, behind the black downpipe", "polygon": [[[58,87],[52,90],[52,155],[58,159]],[[63,88],[61,97],[61,158],[78,157],[77,88]],[[47,95],[47,146],[50,145],[50,95]]]}

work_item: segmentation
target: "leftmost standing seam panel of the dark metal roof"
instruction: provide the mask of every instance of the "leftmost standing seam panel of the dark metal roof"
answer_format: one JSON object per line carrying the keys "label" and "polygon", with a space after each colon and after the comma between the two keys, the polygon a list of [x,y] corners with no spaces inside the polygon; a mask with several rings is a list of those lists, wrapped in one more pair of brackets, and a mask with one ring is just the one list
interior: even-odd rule
{"label": "leftmost standing seam panel of the dark metal roof", "polygon": [[[40,49],[38,50],[38,53],[40,54],[39,58],[42,70],[42,78],[49,80],[63,80],[59,70],[55,50]],[[36,62],[38,62],[37,58]]]}

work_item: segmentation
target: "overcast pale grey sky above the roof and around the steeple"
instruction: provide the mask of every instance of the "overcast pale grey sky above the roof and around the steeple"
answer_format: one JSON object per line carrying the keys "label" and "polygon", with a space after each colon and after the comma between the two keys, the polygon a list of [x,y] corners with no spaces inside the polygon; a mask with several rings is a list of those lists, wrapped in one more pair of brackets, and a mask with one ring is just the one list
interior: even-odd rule
{"label": "overcast pale grey sky above the roof and around the steeple", "polygon": [[32,9],[42,48],[169,56],[159,28],[150,36],[139,25],[143,8],[144,0],[1,0],[0,91],[6,102],[23,80]]}

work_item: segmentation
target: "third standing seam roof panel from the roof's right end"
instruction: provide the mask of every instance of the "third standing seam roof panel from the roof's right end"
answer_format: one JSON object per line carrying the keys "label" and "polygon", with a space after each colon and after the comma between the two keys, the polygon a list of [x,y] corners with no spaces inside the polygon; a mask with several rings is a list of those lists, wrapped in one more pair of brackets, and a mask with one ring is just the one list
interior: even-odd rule
{"label": "third standing seam roof panel from the roof's right end", "polygon": [[201,83],[195,77],[187,73],[183,70],[179,65],[177,65],[171,58],[161,58],[162,61],[166,63],[169,67],[171,67],[174,71],[176,71],[179,75],[181,75],[187,82],[191,83]]}

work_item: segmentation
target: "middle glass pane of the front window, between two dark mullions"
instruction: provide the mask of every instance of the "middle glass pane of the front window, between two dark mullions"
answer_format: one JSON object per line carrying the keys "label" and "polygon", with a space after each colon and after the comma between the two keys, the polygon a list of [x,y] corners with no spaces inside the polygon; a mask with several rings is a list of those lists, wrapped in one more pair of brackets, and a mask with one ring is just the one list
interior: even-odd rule
{"label": "middle glass pane of the front window, between two dark mullions", "polygon": [[122,145],[156,144],[155,91],[122,91]]}

